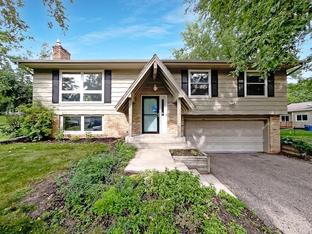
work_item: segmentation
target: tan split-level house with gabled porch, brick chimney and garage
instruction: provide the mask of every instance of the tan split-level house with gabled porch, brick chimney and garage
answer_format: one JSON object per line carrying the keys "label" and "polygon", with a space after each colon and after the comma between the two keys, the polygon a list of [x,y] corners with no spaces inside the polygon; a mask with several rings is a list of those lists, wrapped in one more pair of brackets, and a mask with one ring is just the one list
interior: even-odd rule
{"label": "tan split-level house with gabled porch, brick chimney and garage", "polygon": [[[280,151],[287,115],[285,65],[267,79],[238,77],[226,60],[71,60],[58,41],[52,60],[12,60],[34,69],[33,98],[55,106],[65,137],[126,137],[138,147],[204,152]],[[298,63],[300,65],[302,63]],[[94,127],[97,131],[93,131]],[[162,142],[161,142],[162,141]]]}

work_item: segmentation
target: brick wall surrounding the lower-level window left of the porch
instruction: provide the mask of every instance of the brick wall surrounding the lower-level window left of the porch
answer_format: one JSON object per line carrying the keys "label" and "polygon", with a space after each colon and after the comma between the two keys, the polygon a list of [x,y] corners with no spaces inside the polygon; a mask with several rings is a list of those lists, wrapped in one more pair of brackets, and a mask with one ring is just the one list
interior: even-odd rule
{"label": "brick wall surrounding the lower-level window left of the porch", "polygon": [[[129,124],[127,115],[104,115],[103,117],[103,130],[104,134],[93,134],[95,137],[126,137],[128,136]],[[52,134],[54,137],[55,133],[59,132],[60,127],[60,116],[54,118],[52,123]],[[78,136],[85,138],[85,134],[64,134],[65,138],[72,136]]]}

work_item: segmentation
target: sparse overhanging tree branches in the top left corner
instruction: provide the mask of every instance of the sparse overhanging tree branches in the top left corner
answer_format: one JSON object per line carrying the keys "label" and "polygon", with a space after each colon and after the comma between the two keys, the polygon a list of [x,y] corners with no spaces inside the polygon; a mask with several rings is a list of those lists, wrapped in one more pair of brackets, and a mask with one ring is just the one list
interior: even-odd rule
{"label": "sparse overhanging tree branches in the top left corner", "polygon": [[[70,3],[73,0],[68,0]],[[61,0],[42,0],[47,7],[48,16],[54,18],[63,34],[68,30],[66,8]],[[34,4],[33,1],[29,3]],[[20,16],[20,9],[25,6],[24,0],[0,0],[0,55],[5,56],[9,50],[19,49],[25,39],[34,39],[28,34],[29,26]],[[48,22],[53,27],[53,22]]]}

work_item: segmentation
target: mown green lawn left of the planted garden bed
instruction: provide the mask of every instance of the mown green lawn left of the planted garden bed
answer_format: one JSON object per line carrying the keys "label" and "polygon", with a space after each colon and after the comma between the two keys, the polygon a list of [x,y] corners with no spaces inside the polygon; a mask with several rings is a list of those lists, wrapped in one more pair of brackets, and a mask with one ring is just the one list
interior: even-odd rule
{"label": "mown green lawn left of the planted garden bed", "polygon": [[64,170],[85,154],[108,148],[104,143],[14,143],[0,145],[0,208],[31,182]]}

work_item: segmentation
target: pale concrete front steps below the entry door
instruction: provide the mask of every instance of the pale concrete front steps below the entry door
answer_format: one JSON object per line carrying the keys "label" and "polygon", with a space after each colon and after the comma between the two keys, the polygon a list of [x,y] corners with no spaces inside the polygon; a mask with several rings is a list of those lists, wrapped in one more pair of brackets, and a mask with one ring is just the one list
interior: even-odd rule
{"label": "pale concrete front steps below the entry door", "polygon": [[177,137],[172,134],[140,134],[126,137],[126,142],[138,149],[185,149],[187,142],[185,137]]}

